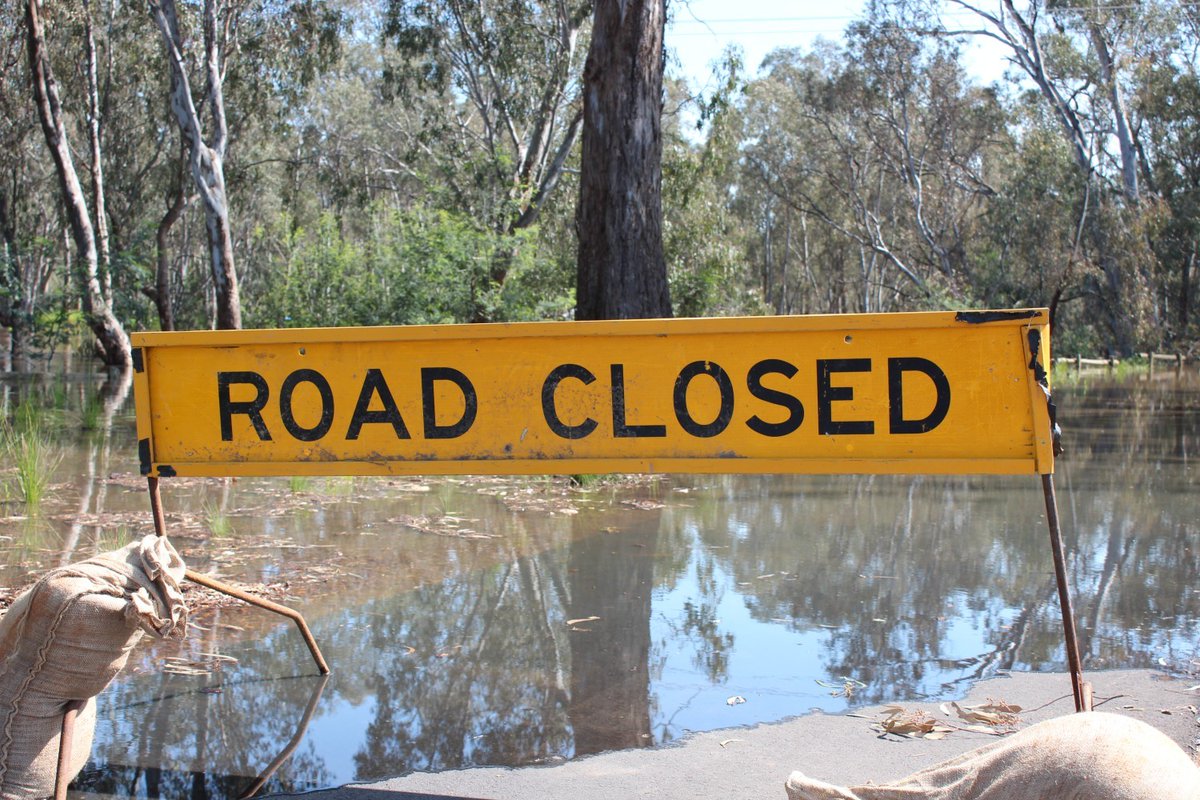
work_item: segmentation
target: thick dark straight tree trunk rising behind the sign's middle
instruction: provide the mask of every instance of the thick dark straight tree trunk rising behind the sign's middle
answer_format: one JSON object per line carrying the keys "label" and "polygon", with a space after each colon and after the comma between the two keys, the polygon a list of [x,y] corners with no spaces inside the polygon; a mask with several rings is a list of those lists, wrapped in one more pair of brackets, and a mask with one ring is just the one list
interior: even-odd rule
{"label": "thick dark straight tree trunk rising behind the sign's middle", "polygon": [[670,317],[662,0],[599,0],[583,68],[576,319]]}

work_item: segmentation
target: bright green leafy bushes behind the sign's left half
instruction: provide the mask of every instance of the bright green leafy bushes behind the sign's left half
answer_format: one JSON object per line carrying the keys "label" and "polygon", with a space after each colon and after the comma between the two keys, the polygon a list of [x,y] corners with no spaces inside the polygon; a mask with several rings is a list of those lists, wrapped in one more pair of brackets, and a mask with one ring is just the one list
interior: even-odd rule
{"label": "bright green leafy bushes behind the sign's left half", "polygon": [[[281,218],[259,233],[278,257],[263,282],[247,282],[247,315],[253,326],[313,327],[462,323],[480,307],[493,319],[560,313],[566,276],[539,257],[535,235],[497,234],[425,209],[374,210],[359,242],[330,213],[311,230]],[[499,259],[508,263],[503,287],[490,281]]]}

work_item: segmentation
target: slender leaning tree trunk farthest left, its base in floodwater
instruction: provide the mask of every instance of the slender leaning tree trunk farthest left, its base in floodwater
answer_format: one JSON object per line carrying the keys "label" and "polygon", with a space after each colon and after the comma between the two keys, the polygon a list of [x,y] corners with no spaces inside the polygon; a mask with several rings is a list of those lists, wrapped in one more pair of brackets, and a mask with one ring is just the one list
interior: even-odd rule
{"label": "slender leaning tree trunk farthest left, its base in floodwater", "polygon": [[[62,107],[59,91],[50,72],[50,62],[46,56],[46,37],[42,32],[42,20],[37,0],[25,4],[25,38],[29,46],[29,72],[34,84],[34,100],[37,104],[37,116],[42,124],[46,145],[54,158],[54,169],[62,192],[71,235],[79,251],[83,311],[88,324],[96,336],[96,345],[101,359],[112,367],[127,367],[131,363],[130,338],[120,320],[113,314],[113,307],[100,285],[100,255],[96,247],[96,235],[88,212],[88,200],[79,184],[67,142],[66,125],[62,121]],[[102,213],[102,211],[98,211]]]}

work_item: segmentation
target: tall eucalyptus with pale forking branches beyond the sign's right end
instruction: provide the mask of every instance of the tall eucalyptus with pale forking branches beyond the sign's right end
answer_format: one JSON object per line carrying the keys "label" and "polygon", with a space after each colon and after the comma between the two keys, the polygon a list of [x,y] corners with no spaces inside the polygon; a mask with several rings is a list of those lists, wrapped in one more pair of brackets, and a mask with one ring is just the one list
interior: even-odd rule
{"label": "tall eucalyptus with pale forking branches beyond the sign's right end", "polygon": [[[978,26],[941,25],[942,35],[973,35],[1002,44],[1009,62],[1034,88],[1070,148],[1086,185],[1079,209],[1081,245],[1100,267],[1087,281],[1092,308],[1106,327],[1110,347],[1129,353],[1153,342],[1165,320],[1156,318],[1152,239],[1158,225],[1147,204],[1145,179],[1154,172],[1142,140],[1146,126],[1132,103],[1139,67],[1147,59],[1182,64],[1184,52],[1154,55],[1163,34],[1187,17],[1186,4],[1049,2],[1002,0],[991,6],[952,0]],[[1172,24],[1163,26],[1163,18]]]}

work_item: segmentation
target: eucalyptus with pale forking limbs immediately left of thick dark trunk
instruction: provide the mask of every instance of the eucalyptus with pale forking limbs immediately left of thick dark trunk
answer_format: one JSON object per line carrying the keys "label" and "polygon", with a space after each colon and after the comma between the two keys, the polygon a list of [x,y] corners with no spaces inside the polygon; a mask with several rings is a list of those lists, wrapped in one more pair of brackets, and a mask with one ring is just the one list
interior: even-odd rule
{"label": "eucalyptus with pale forking limbs immediately left of thick dark trunk", "polygon": [[[534,225],[578,138],[590,11],[592,0],[386,0],[386,92],[408,118],[395,127],[395,168],[485,229]],[[485,297],[514,254],[491,258],[474,319],[491,315]]]}

